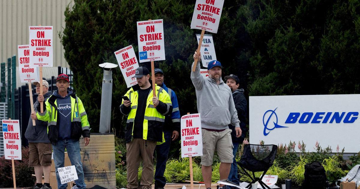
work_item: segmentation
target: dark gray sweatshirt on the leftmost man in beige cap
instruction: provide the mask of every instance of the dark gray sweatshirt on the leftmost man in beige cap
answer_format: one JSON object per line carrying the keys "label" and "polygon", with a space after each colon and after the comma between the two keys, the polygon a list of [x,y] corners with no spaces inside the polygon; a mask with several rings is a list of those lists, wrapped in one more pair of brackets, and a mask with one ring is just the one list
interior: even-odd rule
{"label": "dark gray sweatshirt on the leftmost man in beige cap", "polygon": [[[50,96],[51,92],[44,94],[44,103]],[[37,107],[38,104],[39,101],[36,100],[36,102],[34,103],[34,107]],[[35,108],[35,113],[36,112],[37,109]],[[25,131],[25,138],[29,141],[29,143],[50,143],[50,140],[48,138],[48,122],[35,120],[35,124],[36,126],[32,126],[32,120],[30,117],[29,123]]]}

